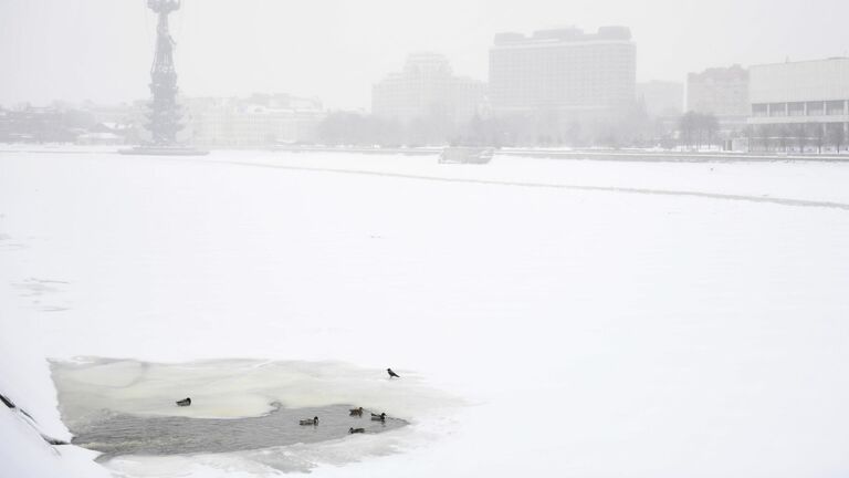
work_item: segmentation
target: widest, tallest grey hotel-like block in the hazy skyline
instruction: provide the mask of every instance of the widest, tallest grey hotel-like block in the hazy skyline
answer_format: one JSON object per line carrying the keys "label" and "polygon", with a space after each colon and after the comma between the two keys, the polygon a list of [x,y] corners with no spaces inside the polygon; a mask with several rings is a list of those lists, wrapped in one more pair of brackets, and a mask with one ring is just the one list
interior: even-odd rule
{"label": "widest, tallest grey hotel-like block in the hazy skyline", "polygon": [[635,86],[636,46],[626,27],[499,33],[490,49],[496,116],[611,118],[633,104]]}

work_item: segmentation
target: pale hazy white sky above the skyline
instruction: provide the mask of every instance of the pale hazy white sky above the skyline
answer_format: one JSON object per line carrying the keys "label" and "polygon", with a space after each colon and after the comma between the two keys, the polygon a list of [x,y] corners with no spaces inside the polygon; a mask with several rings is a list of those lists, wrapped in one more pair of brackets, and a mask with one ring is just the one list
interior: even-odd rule
{"label": "pale hazy white sky above the skyline", "polygon": [[[146,0],[0,0],[0,105],[147,97]],[[631,28],[637,75],[845,55],[849,0],[184,0],[171,14],[187,95],[289,92],[368,107],[411,51],[486,80],[500,31]]]}

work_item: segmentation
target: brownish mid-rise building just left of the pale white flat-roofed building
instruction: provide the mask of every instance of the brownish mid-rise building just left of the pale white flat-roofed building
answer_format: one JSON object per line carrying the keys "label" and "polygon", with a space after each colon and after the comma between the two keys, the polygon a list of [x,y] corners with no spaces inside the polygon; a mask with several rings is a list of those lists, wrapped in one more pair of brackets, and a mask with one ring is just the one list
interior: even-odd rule
{"label": "brownish mid-rise building just left of the pale white flat-roofed building", "polygon": [[748,71],[735,64],[690,73],[686,111],[716,116],[724,132],[742,129],[748,116]]}

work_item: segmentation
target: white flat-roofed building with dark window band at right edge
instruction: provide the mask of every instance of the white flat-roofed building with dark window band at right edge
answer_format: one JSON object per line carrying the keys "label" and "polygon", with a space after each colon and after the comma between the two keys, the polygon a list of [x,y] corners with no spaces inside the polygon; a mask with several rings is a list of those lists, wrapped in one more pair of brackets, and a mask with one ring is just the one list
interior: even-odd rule
{"label": "white flat-roofed building with dark window band at right edge", "polygon": [[842,125],[849,132],[849,58],[751,67],[752,125]]}

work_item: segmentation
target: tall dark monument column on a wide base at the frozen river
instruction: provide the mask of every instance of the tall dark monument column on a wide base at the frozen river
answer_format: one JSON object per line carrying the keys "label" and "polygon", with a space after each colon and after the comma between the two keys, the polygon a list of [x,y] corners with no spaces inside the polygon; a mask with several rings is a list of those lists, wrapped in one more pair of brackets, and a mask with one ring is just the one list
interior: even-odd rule
{"label": "tall dark monument column on a wide base at the frozen river", "polygon": [[157,17],[156,52],[150,66],[150,114],[146,125],[151,139],[147,145],[124,149],[123,154],[205,155],[208,152],[184,147],[177,143],[180,106],[177,104],[177,70],[174,67],[175,41],[168,31],[168,14],[180,8],[180,0],[147,0]]}

